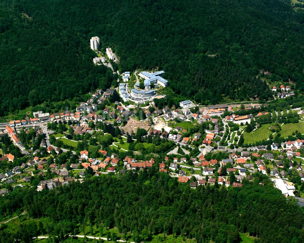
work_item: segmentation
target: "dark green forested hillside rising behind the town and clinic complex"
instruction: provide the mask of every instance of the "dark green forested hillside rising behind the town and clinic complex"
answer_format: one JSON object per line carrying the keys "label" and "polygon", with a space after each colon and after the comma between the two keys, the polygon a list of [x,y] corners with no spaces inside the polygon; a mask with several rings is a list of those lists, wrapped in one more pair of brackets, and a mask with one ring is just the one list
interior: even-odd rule
{"label": "dark green forested hillside rising behind the town and clinic complex", "polygon": [[121,71],[164,70],[171,99],[269,99],[259,70],[303,91],[303,20],[279,0],[7,0],[0,116],[110,84],[111,73],[92,64],[92,36],[112,47]]}

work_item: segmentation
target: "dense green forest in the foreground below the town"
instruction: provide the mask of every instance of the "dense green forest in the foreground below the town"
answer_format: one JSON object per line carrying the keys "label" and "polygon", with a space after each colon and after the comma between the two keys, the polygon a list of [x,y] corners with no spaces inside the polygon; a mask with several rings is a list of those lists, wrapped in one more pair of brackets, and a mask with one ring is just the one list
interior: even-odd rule
{"label": "dense green forest in the foreground below the town", "polygon": [[[264,182],[265,185],[259,184]],[[0,242],[30,242],[40,234],[64,235],[117,227],[124,238],[149,240],[155,234],[183,235],[199,243],[240,242],[240,233],[257,242],[303,242],[303,211],[287,201],[267,176],[254,174],[241,188],[199,186],[190,189],[154,166],[139,174],[92,177],[83,183],[37,192],[19,188],[0,197],[0,220],[15,211],[30,217],[0,227]],[[92,234],[91,233],[91,234]],[[52,241],[53,242],[53,241]]]}

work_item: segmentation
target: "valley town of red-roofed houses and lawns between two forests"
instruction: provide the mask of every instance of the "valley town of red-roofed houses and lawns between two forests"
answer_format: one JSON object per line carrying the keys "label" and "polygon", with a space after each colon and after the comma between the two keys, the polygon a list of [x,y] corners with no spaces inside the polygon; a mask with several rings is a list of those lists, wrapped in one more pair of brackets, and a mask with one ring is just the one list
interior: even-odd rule
{"label": "valley town of red-roofed houses and lawns between two forests", "polygon": [[[74,110],[35,111],[1,123],[0,193],[152,169],[193,189],[270,178],[282,194],[303,202],[303,102],[202,106],[185,100],[169,107],[158,93],[168,83],[163,73],[126,71]],[[135,98],[136,90],[141,96]],[[288,85],[272,91],[293,96]]]}

